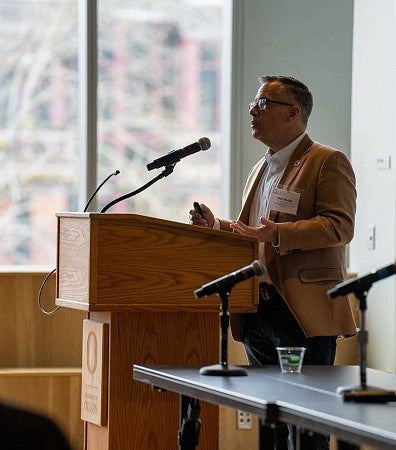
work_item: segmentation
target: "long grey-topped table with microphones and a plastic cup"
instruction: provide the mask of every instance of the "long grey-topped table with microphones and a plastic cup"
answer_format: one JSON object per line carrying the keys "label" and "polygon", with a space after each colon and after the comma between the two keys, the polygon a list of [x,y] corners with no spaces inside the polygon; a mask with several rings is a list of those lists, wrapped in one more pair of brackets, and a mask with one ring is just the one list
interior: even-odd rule
{"label": "long grey-topped table with microphones and a plastic cup", "polygon": [[[181,424],[186,419],[192,422],[188,434],[193,432],[192,440],[185,442],[180,439],[181,426],[180,449],[194,449],[198,444],[194,422],[199,401],[246,411],[268,423],[282,422],[297,430],[332,434],[339,449],[362,444],[396,449],[396,402],[351,402],[337,393],[339,387],[359,385],[359,366],[303,366],[300,374],[282,373],[279,366],[245,367],[247,376],[201,375],[199,369],[133,366],[135,380],[180,394]],[[395,391],[396,375],[367,369],[367,385]]]}

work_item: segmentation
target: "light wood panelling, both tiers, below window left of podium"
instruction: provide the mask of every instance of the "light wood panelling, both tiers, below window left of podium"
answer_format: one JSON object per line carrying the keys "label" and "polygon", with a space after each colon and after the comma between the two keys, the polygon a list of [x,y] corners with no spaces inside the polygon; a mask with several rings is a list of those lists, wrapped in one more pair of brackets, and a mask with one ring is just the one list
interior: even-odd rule
{"label": "light wood panelling, both tiers, below window left of podium", "polygon": [[[82,450],[80,418],[82,321],[61,308],[45,315],[37,296],[46,272],[0,272],[0,401],[53,419],[73,450]],[[54,309],[55,274],[42,292]]]}

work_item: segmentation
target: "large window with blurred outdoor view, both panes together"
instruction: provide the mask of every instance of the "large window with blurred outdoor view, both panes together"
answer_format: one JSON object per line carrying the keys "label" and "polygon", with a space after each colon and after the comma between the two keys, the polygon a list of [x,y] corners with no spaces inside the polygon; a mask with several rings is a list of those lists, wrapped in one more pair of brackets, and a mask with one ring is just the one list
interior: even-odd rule
{"label": "large window with blurred outdoor view, both panes together", "polygon": [[[98,2],[98,210],[160,173],[146,165],[200,137],[209,151],[109,212],[186,222],[219,208],[222,0]],[[54,264],[57,211],[78,209],[78,5],[0,6],[0,264]],[[92,187],[92,191],[94,186]]]}

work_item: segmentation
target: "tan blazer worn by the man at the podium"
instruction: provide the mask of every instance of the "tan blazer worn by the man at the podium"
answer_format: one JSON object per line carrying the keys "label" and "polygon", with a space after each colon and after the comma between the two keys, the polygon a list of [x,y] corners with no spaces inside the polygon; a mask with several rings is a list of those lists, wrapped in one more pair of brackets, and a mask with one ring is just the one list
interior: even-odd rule
{"label": "tan blazer worn by the man at the podium", "polygon": [[[252,198],[266,167],[261,159],[246,182],[239,220],[249,221]],[[278,223],[280,247],[265,246],[265,266],[307,337],[347,336],[356,325],[347,297],[327,291],[346,277],[345,247],[352,240],[356,211],[355,176],[340,151],[306,135],[284,171],[279,186],[300,194],[295,215],[270,211]],[[220,221],[230,229],[229,221]],[[243,314],[233,314],[231,330],[243,340]]]}

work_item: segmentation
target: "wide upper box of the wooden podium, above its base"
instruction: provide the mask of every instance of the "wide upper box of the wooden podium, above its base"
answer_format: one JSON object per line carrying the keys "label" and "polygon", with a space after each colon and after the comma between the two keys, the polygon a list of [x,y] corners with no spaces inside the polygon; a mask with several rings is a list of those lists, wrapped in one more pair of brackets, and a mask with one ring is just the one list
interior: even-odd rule
{"label": "wide upper box of the wooden podium, above its base", "polygon": [[[218,311],[194,290],[258,258],[255,239],[133,214],[58,215],[57,304],[88,311]],[[237,284],[231,311],[254,311],[257,278]]]}

